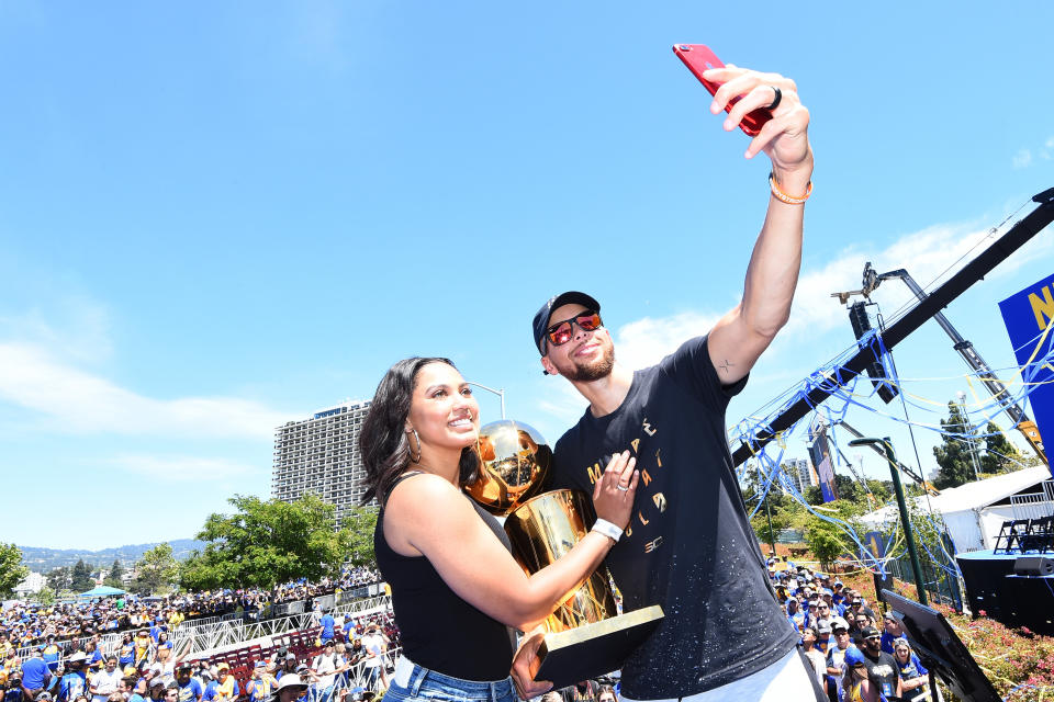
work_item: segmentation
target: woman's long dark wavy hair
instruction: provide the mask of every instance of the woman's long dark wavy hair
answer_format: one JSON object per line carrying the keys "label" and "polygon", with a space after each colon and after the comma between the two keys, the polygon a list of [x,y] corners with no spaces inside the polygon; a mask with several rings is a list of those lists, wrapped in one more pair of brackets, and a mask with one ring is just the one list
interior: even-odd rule
{"label": "woman's long dark wavy hair", "polygon": [[[370,411],[359,433],[359,451],[366,467],[366,495],[362,503],[374,497],[383,507],[395,479],[410,467],[410,440],[406,438],[406,417],[417,374],[429,363],[446,363],[457,370],[450,359],[413,356],[390,367],[370,404]],[[480,461],[472,446],[461,451],[460,484],[470,485],[480,474]]]}

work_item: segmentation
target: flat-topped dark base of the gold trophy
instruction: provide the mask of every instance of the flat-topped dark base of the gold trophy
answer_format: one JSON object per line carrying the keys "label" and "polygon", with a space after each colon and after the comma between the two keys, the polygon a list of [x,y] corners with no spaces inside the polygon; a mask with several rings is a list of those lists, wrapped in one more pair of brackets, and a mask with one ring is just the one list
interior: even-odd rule
{"label": "flat-topped dark base of the gold trophy", "polygon": [[658,604],[633,610],[558,634],[546,634],[538,647],[540,665],[535,680],[549,680],[553,689],[596,678],[621,667],[662,620]]}

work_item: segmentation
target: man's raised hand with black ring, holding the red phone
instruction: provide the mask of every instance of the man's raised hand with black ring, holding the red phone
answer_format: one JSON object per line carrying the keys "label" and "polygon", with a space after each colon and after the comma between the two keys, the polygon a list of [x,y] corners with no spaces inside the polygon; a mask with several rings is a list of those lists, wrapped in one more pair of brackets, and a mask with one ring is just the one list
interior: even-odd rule
{"label": "man's raised hand with black ring, holding the red phone", "polygon": [[[780,104],[773,110],[772,120],[765,123],[761,133],[747,147],[745,156],[753,158],[759,151],[764,151],[772,159],[772,170],[781,184],[785,183],[790,173],[803,168],[811,173],[812,151],[807,134],[809,111],[798,99],[798,88],[793,80],[780,73],[762,73],[731,64],[725,68],[711,68],[703,75],[707,80],[721,83],[714,95],[714,102],[710,103],[710,112],[714,114],[721,112],[735,98],[741,98],[725,117],[725,129],[728,132],[738,127],[747,113],[771,105],[776,99],[774,88],[778,88]],[[788,189],[792,185],[786,184]],[[804,190],[788,192],[797,195]]]}

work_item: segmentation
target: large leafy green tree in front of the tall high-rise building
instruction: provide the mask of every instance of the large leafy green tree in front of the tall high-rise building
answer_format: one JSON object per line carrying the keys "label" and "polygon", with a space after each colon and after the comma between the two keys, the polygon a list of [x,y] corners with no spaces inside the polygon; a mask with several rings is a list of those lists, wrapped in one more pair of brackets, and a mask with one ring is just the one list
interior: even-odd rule
{"label": "large leafy green tree in front of the tall high-rise building", "polygon": [[[336,509],[316,495],[292,502],[235,495],[227,501],[237,511],[210,516],[198,534],[208,542],[204,551],[183,564],[180,582],[187,589],[271,588],[337,577],[356,552],[351,531],[335,529]],[[365,557],[361,548],[359,554]]]}

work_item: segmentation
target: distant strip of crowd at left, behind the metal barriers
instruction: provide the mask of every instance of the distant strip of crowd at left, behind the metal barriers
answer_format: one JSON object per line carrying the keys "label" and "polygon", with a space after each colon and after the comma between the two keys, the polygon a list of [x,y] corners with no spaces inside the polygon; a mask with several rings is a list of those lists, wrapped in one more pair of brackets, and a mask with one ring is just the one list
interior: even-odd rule
{"label": "distant strip of crowd at left, behind the metal barriers", "polygon": [[[100,598],[88,602],[64,602],[40,605],[10,602],[0,612],[0,646],[15,649],[31,646],[56,647],[55,653],[72,653],[74,642],[99,634],[134,631],[139,627],[169,630],[181,623],[224,614],[257,618],[272,605],[311,601],[327,595],[339,595],[380,581],[375,569],[347,569],[339,579],[321,582],[296,581],[270,590],[215,590],[137,598],[135,596]],[[309,610],[310,611],[310,610]]]}

